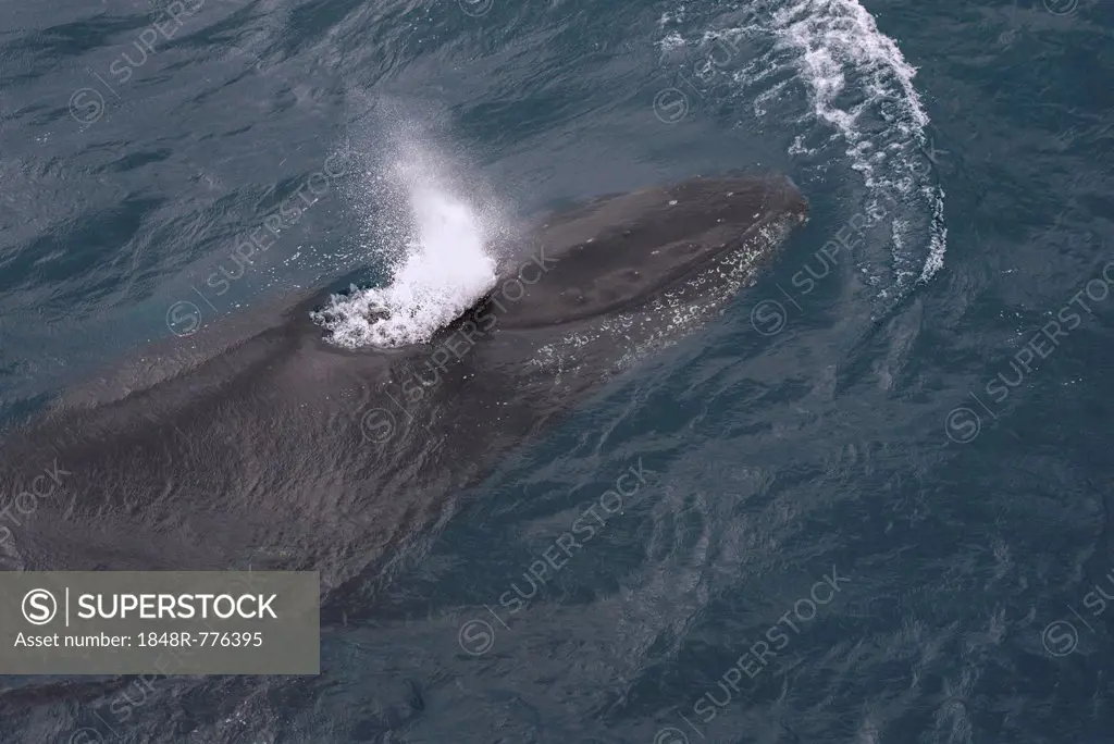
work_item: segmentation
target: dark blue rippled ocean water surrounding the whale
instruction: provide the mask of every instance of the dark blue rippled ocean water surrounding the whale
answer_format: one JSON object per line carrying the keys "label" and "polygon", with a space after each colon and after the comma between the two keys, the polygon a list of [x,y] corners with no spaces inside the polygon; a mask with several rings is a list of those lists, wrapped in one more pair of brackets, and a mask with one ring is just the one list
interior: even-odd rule
{"label": "dark blue rippled ocean water surrounding the whale", "polygon": [[8,424],[380,275],[399,133],[516,216],[742,169],[811,221],[468,493],[320,677],[9,679],[0,737],[1114,742],[1112,37],[1101,0],[2,0]]}

